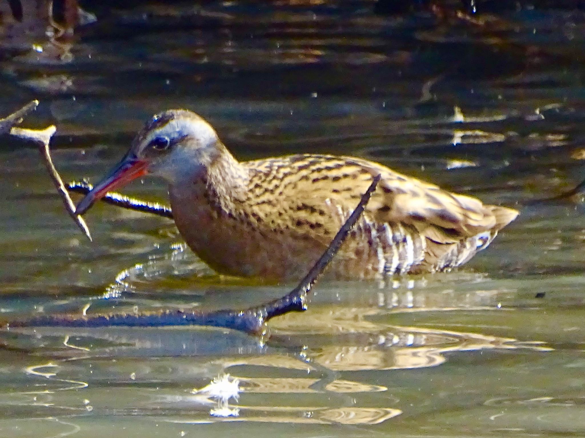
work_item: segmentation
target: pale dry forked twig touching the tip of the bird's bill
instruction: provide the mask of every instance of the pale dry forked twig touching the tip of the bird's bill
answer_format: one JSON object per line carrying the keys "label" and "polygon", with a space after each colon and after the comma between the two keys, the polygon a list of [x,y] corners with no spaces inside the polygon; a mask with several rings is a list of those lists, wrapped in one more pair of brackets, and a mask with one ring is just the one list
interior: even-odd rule
{"label": "pale dry forked twig touching the tip of the bird's bill", "polygon": [[54,126],[49,126],[43,130],[34,130],[14,127],[15,124],[18,124],[22,121],[23,116],[36,109],[37,105],[39,105],[39,101],[33,100],[28,105],[22,107],[22,109],[6,117],[6,119],[0,120],[0,133],[10,133],[11,135],[22,138],[23,140],[34,141],[39,146],[44,164],[47,167],[47,171],[49,171],[51,179],[53,179],[55,187],[57,187],[57,191],[63,200],[63,204],[65,205],[67,213],[69,213],[69,215],[75,221],[75,224],[77,224],[81,231],[83,231],[87,238],[91,241],[90,230],[83,218],[80,215],[75,214],[75,205],[73,204],[73,201],[67,192],[63,180],[59,176],[59,173],[57,172],[57,169],[55,169],[53,161],[51,160],[51,155],[49,153],[49,142],[51,141],[51,137],[53,137],[56,128]]}

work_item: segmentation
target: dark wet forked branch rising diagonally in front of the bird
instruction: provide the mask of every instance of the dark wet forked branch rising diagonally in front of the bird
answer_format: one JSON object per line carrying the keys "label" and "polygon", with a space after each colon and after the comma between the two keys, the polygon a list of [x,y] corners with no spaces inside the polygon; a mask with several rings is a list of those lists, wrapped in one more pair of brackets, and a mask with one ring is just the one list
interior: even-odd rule
{"label": "dark wet forked branch rising diagonally in front of the bird", "polygon": [[[169,326],[169,325],[209,325],[241,330],[247,333],[265,334],[269,319],[287,312],[307,310],[307,294],[315,281],[323,273],[335,254],[339,251],[347,235],[359,220],[371,194],[376,190],[380,176],[376,176],[359,204],[337,232],[331,244],[290,293],[278,300],[261,304],[246,310],[218,310],[212,312],[164,310],[144,314],[108,315],[46,315],[32,319],[13,321],[6,328],[31,326],[59,327],[102,327],[102,326]],[[126,207],[128,208],[128,207]]]}

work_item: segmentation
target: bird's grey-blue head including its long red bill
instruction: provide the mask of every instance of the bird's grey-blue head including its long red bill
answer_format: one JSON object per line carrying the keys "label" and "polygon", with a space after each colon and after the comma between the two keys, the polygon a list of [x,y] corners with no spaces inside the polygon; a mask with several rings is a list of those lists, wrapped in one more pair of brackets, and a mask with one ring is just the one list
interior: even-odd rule
{"label": "bird's grey-blue head including its long red bill", "polygon": [[168,110],[154,116],[136,135],[122,161],[77,205],[84,214],[95,201],[143,175],[175,182],[209,166],[220,153],[214,128],[188,110]]}

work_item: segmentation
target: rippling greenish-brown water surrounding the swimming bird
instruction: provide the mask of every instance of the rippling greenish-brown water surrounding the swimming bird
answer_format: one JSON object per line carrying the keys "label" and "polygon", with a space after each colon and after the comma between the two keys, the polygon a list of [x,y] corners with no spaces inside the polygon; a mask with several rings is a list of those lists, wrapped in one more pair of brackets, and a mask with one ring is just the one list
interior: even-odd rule
{"label": "rippling greenish-brown water surrounding the swimming bird", "polygon": [[[374,15],[367,1],[86,9],[98,21],[76,31],[71,62],[50,46],[5,55],[6,36],[0,50],[0,114],[39,98],[25,124],[57,124],[64,178],[95,180],[150,114],[189,107],[239,158],[357,155],[521,215],[457,272],[319,283],[267,340],[0,332],[0,436],[585,434],[583,206],[524,206],[580,181],[582,12],[504,11],[478,29],[428,11]],[[3,319],[242,308],[292,286],[219,277],[171,221],[113,207],[87,215],[90,244],[30,145],[0,138],[0,172]],[[148,179],[127,191],[165,190]],[[226,373],[241,392],[222,417],[191,391]]]}

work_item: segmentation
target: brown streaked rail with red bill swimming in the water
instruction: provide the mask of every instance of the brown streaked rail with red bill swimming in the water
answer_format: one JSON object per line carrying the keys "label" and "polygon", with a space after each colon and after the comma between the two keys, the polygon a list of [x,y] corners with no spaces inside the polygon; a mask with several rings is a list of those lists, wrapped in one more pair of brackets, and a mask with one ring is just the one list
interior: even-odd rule
{"label": "brown streaked rail with red bill swimming in the water", "polygon": [[178,230],[205,262],[221,273],[272,280],[302,277],[378,174],[376,193],[329,268],[335,277],[462,265],[518,214],[359,158],[238,162],[215,130],[187,110],[150,120],[77,213],[147,173],[168,181]]}

